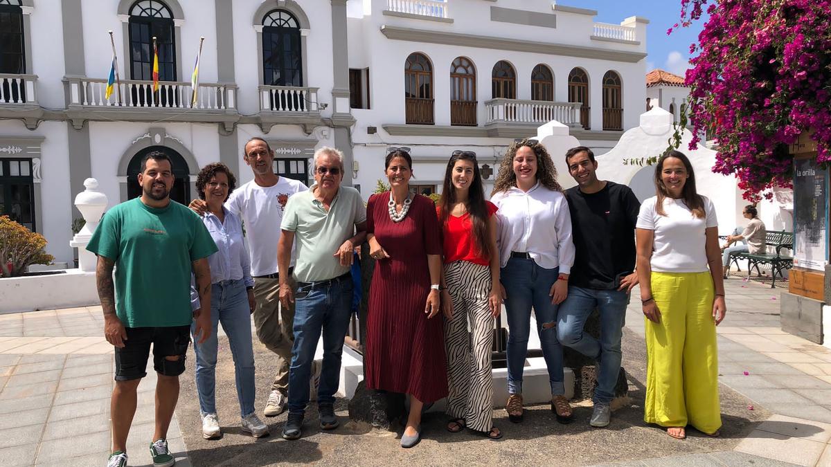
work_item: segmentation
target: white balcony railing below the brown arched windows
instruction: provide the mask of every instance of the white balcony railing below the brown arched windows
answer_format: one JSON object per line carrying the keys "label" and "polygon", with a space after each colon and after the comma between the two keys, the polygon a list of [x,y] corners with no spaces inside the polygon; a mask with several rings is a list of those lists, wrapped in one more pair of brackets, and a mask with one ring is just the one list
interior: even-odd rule
{"label": "white balcony railing below the brown arched windows", "polygon": [[543,124],[557,120],[563,125],[580,126],[579,102],[521,101],[493,99],[484,103],[487,123]]}

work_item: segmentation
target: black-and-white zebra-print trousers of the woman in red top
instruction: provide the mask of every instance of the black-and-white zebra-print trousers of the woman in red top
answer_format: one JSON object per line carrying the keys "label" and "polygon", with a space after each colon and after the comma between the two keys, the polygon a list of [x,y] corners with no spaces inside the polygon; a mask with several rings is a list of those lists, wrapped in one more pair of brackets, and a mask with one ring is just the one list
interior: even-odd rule
{"label": "black-and-white zebra-print trousers of the woman in red top", "polygon": [[467,261],[445,264],[445,283],[453,301],[453,319],[445,318],[450,390],[447,415],[465,419],[471,430],[487,432],[493,426],[494,415],[490,363],[494,317],[488,308],[490,268]]}

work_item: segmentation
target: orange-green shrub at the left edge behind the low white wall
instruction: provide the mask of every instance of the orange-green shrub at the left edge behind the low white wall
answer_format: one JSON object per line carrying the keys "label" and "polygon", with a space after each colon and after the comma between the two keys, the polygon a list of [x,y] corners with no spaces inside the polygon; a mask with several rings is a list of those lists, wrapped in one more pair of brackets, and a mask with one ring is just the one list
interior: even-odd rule
{"label": "orange-green shrub at the left edge behind the low white wall", "polygon": [[30,264],[52,264],[55,258],[43,249],[46,246],[43,235],[0,216],[0,277],[20,276]]}

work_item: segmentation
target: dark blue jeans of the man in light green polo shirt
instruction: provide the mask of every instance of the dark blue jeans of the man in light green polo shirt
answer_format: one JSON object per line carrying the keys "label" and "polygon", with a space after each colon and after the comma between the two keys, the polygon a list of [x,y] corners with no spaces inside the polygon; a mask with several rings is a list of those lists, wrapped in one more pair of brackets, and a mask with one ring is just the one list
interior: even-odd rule
{"label": "dark blue jeans of the man in light green polo shirt", "polygon": [[294,346],[288,371],[288,412],[302,414],[309,401],[309,379],[317,341],[323,334],[323,364],[317,404],[334,404],[341,378],[343,337],[352,317],[352,278],[331,283],[297,283],[294,307]]}

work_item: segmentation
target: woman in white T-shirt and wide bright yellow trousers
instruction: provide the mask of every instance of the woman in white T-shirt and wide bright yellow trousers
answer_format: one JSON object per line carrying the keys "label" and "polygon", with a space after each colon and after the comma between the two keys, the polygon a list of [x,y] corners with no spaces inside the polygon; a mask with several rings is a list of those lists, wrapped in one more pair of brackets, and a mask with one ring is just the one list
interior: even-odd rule
{"label": "woman in white T-shirt and wide bright yellow trousers", "polygon": [[658,159],[655,187],[636,225],[648,358],[643,420],[679,440],[686,425],[717,436],[715,327],[727,310],[715,208],[696,193],[692,165],[681,152]]}

